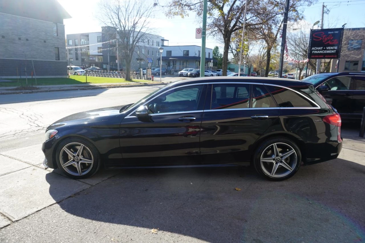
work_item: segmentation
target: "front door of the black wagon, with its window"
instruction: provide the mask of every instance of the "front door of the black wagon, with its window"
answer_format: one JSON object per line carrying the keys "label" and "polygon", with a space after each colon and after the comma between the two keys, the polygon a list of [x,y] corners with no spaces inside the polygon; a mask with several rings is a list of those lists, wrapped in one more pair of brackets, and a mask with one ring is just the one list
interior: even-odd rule
{"label": "front door of the black wagon, with its window", "polygon": [[185,165],[197,163],[206,84],[170,89],[145,105],[149,119],[134,112],[120,124],[123,164]]}

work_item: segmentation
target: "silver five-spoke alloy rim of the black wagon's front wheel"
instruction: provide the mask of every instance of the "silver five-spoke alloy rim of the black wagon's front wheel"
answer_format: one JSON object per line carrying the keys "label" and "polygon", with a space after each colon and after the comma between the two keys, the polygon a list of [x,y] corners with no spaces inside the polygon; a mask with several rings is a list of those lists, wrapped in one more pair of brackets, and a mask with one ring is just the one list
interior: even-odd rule
{"label": "silver five-spoke alloy rim of the black wagon's front wheel", "polygon": [[94,158],[88,147],[74,142],[66,144],[62,148],[59,153],[59,161],[67,173],[80,176],[91,170]]}

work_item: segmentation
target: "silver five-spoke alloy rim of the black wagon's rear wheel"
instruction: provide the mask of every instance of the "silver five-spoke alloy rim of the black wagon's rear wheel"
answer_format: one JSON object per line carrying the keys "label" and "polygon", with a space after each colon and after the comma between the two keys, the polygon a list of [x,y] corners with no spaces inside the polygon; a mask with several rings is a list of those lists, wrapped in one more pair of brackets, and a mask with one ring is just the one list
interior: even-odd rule
{"label": "silver five-spoke alloy rim of the black wagon's rear wheel", "polygon": [[289,175],[296,167],[297,154],[292,146],[286,143],[273,143],[261,154],[262,171],[270,177],[281,178]]}

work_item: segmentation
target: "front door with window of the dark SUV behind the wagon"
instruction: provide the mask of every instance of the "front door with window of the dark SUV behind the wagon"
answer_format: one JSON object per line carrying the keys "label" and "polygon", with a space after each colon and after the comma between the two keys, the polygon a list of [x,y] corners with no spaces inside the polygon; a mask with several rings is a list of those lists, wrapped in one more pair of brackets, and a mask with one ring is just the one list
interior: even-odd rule
{"label": "front door with window of the dark SUV behind the wagon", "polygon": [[327,100],[328,104],[333,105],[343,118],[347,118],[353,113],[353,100],[350,91],[351,76],[333,77],[324,82],[322,85],[328,88],[328,91],[320,92]]}

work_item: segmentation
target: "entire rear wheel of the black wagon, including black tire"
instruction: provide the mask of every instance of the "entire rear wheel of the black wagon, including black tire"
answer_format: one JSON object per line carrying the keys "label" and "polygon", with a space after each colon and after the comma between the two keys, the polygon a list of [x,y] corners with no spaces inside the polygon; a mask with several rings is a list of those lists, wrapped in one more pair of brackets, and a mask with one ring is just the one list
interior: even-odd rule
{"label": "entire rear wheel of the black wagon, including black tire", "polygon": [[[279,156],[274,155],[274,144],[276,144]],[[292,153],[285,154],[289,152]],[[283,155],[288,155],[284,158],[284,161],[282,160]],[[253,157],[253,165],[256,171],[272,181],[282,181],[292,177],[298,171],[300,162],[301,152],[299,147],[295,142],[285,137],[265,140],[256,149]],[[276,170],[274,169],[275,166]]]}

